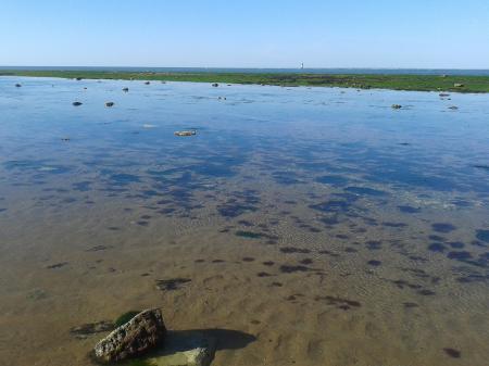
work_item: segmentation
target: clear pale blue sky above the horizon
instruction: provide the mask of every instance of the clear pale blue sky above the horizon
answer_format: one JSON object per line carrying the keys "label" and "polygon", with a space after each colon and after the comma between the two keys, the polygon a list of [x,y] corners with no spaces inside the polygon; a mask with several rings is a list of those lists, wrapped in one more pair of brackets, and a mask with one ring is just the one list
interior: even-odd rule
{"label": "clear pale blue sky above the horizon", "polygon": [[489,0],[0,0],[0,65],[489,68]]}

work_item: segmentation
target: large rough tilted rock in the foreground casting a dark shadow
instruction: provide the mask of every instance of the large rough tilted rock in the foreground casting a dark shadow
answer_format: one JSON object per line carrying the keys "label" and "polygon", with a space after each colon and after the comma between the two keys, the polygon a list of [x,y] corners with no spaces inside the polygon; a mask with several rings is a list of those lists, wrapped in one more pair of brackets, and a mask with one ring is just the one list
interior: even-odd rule
{"label": "large rough tilted rock in the foreground casting a dark shadow", "polygon": [[97,343],[93,356],[102,363],[124,361],[162,344],[165,336],[166,328],[161,311],[147,310]]}

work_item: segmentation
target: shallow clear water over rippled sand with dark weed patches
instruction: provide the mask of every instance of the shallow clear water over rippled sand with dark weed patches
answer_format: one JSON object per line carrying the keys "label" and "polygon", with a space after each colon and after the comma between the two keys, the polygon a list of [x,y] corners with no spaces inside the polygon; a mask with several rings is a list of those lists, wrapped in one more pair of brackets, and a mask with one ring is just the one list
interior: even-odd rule
{"label": "shallow clear water over rippled sand with dark weed patches", "polygon": [[487,96],[1,77],[0,111],[2,362],[161,306],[214,365],[486,364]]}

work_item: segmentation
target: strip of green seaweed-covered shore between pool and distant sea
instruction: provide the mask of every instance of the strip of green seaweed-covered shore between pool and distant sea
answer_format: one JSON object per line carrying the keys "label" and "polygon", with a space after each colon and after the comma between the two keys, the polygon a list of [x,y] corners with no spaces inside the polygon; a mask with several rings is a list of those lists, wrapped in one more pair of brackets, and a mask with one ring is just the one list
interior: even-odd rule
{"label": "strip of green seaweed-covered shore between pool and distant sea", "polygon": [[[93,71],[0,71],[0,76],[62,77],[85,79],[164,80],[275,86],[317,86],[358,89],[489,92],[489,76],[444,75],[326,75],[240,73],[131,73]],[[462,87],[455,87],[455,85]]]}

